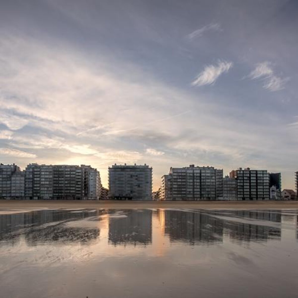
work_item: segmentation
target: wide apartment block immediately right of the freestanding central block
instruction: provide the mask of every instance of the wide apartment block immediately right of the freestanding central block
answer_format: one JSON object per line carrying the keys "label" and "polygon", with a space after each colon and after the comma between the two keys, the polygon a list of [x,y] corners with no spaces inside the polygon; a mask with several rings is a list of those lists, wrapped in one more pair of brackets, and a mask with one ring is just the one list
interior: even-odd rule
{"label": "wide apartment block immediately right of the freestanding central block", "polygon": [[214,167],[170,168],[162,177],[161,200],[200,201],[223,196],[223,170]]}

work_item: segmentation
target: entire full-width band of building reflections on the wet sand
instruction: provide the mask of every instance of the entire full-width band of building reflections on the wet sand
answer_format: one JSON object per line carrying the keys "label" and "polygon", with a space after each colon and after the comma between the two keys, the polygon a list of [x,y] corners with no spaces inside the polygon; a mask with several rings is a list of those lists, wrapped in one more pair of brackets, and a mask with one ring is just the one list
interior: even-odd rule
{"label": "entire full-width band of building reflections on the wet sand", "polygon": [[[106,220],[106,229],[100,231],[97,224],[90,224],[103,217]],[[87,223],[88,227],[84,228],[83,223]],[[296,241],[298,238],[297,214],[294,212],[43,210],[0,215],[0,246],[15,245],[21,237],[30,246],[45,243],[89,243],[98,238],[100,232],[103,237],[102,232],[105,230],[110,244],[148,245],[155,241],[152,244],[159,254],[164,253],[164,243],[169,241],[213,245],[226,240]]]}

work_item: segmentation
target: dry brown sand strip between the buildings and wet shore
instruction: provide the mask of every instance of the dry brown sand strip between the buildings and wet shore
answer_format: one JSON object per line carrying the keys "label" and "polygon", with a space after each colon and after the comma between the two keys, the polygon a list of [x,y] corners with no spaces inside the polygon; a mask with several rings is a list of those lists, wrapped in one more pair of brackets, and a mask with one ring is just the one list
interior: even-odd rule
{"label": "dry brown sand strip between the buildings and wet shore", "polygon": [[298,201],[56,201],[0,200],[0,211],[34,209],[298,209]]}

